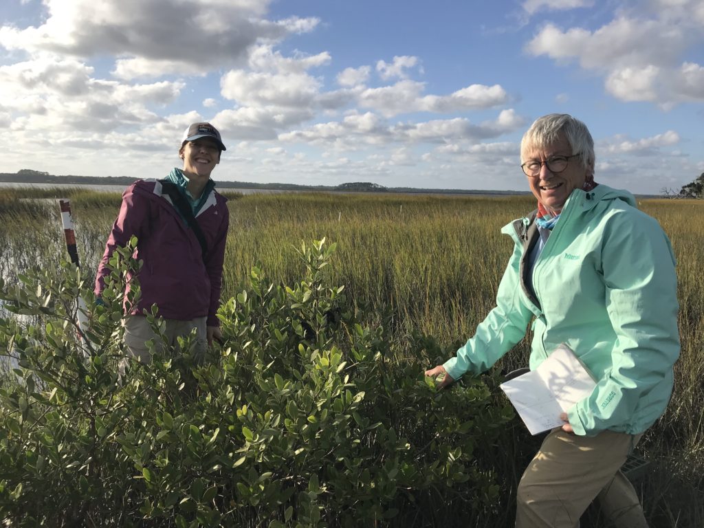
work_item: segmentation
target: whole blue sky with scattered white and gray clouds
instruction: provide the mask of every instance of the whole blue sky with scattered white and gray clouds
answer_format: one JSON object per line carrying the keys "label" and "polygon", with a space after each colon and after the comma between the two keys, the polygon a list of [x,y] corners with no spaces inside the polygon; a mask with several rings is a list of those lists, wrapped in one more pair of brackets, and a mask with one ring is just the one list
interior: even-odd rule
{"label": "whole blue sky with scattered white and gray clouds", "polygon": [[703,0],[1,0],[0,172],[163,177],[191,122],[215,180],[527,189],[571,113],[596,180],[704,172]]}

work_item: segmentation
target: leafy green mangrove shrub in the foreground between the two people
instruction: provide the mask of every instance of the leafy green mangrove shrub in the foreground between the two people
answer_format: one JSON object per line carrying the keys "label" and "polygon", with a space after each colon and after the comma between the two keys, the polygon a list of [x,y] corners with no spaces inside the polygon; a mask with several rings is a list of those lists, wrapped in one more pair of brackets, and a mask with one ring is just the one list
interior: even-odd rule
{"label": "leafy green mangrove shrub in the foreground between the two people", "polygon": [[[102,302],[63,265],[1,284],[0,520],[13,527],[413,526],[451,498],[496,507],[494,463],[513,416],[496,379],[439,391],[439,348],[363,325],[329,284],[334,245],[301,244],[301,280],[252,268],[223,303],[223,341],[150,343],[120,369],[130,248]],[[127,302],[139,295],[132,284]],[[77,298],[87,322],[77,324]],[[187,302],[187,299],[184,299]],[[20,316],[20,317],[18,317]],[[158,331],[158,313],[149,319]]]}

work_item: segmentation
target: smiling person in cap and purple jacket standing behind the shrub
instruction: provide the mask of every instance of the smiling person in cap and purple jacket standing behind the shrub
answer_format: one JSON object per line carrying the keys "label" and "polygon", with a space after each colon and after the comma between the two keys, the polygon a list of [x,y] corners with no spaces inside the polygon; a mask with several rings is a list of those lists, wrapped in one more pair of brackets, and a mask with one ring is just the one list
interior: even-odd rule
{"label": "smiling person in cap and purple jacket standing behind the shrub", "polygon": [[149,312],[154,304],[170,344],[196,329],[198,359],[206,344],[222,337],[215,311],[230,216],[227,199],[215,192],[210,173],[224,150],[220,132],[210,123],[196,122],[187,128],[179,149],[182,169],[174,168],[164,180],[137,180],[122,195],[95,293],[101,296],[115,248],[125,246],[132,235],[137,237],[134,258],[143,261],[136,277],[142,295],[135,306],[125,307],[124,326],[127,351],[142,362],[151,360],[145,343],[155,337],[144,310]]}

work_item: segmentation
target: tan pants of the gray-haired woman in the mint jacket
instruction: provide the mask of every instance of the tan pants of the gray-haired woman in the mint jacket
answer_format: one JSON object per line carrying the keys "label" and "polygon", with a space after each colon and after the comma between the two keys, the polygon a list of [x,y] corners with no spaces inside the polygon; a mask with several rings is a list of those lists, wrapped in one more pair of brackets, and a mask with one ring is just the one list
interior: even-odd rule
{"label": "tan pants of the gray-haired woman in the mint jacket", "polygon": [[647,528],[638,495],[620,472],[640,436],[612,431],[577,436],[554,429],[518,484],[516,527],[579,527],[579,517],[598,497],[612,526]]}

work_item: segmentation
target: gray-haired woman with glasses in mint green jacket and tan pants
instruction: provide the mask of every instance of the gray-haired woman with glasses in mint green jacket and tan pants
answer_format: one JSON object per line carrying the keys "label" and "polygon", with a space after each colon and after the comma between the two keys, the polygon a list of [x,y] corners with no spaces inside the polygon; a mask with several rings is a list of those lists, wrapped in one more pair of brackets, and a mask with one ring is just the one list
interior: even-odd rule
{"label": "gray-haired woman with glasses in mint green jacket and tan pants", "polygon": [[496,308],[467,344],[426,375],[441,386],[479,374],[532,325],[530,367],[567,344],[597,380],[561,416],[524,472],[516,526],[577,527],[598,496],[616,526],[647,527],[620,472],[641,434],[662,415],[679,356],[674,255],[634,197],[593,181],[593,139],[565,114],[536,120],[521,143],[538,209],[503,227],[515,241]]}

